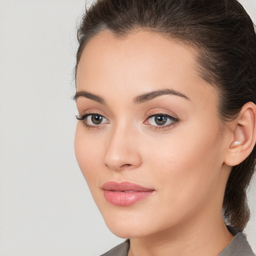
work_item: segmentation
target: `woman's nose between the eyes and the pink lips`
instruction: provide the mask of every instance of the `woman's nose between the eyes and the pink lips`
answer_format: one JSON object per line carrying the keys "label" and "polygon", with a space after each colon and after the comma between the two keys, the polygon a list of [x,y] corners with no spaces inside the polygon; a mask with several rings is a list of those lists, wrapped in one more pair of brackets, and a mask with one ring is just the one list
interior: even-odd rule
{"label": "woman's nose between the eyes and the pink lips", "polygon": [[116,127],[111,131],[103,159],[108,168],[117,171],[141,164],[136,133],[126,127]]}

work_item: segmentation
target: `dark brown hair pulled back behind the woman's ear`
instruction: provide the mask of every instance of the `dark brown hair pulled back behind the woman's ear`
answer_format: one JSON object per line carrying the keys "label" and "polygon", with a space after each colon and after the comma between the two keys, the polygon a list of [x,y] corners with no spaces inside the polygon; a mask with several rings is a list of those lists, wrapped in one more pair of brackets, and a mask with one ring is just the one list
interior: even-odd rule
{"label": "dark brown hair pulled back behind the woman's ear", "polygon": [[[223,121],[235,117],[256,98],[256,36],[253,22],[237,0],[98,0],[77,31],[76,68],[86,42],[102,30],[125,36],[136,29],[153,31],[191,45],[201,77],[219,94]],[[246,188],[253,174],[256,147],[232,167],[223,198],[223,216],[242,230],[249,209]]]}

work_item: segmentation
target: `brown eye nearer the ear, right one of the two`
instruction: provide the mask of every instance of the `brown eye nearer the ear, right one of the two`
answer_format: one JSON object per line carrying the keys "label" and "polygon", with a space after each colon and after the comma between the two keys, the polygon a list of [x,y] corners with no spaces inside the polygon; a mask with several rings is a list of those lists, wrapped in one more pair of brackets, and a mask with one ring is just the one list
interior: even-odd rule
{"label": "brown eye nearer the ear, right one of the two", "polygon": [[168,114],[153,114],[147,117],[145,124],[152,126],[152,128],[164,128],[175,124],[178,121],[177,118]]}

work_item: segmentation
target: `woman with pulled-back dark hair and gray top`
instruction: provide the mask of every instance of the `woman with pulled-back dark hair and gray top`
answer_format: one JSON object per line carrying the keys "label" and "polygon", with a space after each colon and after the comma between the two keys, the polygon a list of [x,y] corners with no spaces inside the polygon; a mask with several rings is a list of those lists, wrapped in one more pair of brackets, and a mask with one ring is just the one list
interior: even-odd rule
{"label": "woman with pulled-back dark hair and gray top", "polygon": [[253,255],[256,38],[236,0],[99,0],[78,29],[75,153],[104,255]]}

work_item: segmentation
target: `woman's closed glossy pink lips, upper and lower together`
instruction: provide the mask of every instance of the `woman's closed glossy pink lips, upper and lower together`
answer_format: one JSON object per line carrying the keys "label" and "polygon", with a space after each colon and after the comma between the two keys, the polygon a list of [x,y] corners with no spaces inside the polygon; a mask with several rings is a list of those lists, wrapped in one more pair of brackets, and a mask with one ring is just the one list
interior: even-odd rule
{"label": "woman's closed glossy pink lips, upper and lower together", "polygon": [[129,206],[151,195],[155,190],[131,182],[108,181],[102,185],[106,200],[114,205]]}

